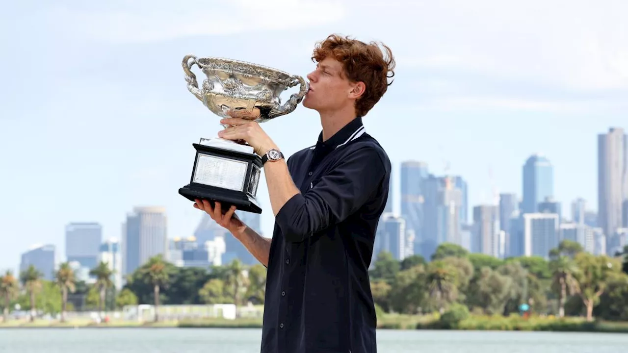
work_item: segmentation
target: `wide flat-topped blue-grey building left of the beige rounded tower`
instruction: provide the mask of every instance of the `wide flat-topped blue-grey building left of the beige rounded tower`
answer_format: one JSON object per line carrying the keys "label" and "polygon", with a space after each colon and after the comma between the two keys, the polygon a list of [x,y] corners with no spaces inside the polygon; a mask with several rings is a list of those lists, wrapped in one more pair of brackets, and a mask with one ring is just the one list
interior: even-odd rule
{"label": "wide flat-topped blue-grey building left of the beige rounded tower", "polygon": [[102,227],[95,222],[74,222],[65,226],[65,257],[88,270],[98,264]]}

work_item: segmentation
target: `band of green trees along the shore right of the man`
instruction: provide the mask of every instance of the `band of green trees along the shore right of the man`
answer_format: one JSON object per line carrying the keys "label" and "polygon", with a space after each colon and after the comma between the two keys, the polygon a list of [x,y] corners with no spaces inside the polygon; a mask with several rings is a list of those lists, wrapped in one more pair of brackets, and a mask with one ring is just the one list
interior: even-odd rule
{"label": "band of green trees along the shore right of the man", "polygon": [[465,305],[472,313],[507,316],[527,305],[524,310],[543,315],[628,320],[628,246],[613,257],[595,256],[565,240],[548,255],[497,259],[448,243],[430,262],[380,253],[372,294],[385,312],[442,313]]}

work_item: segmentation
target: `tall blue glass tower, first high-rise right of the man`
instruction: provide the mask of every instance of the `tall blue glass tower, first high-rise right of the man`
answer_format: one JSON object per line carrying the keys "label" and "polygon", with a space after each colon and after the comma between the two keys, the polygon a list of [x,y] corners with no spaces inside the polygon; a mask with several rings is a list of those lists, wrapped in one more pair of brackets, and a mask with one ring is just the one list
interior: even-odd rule
{"label": "tall blue glass tower, first high-rise right of the man", "polygon": [[428,178],[428,166],[421,161],[404,161],[400,176],[401,217],[406,221],[406,231],[414,233],[414,253],[420,254],[425,204],[423,183]]}

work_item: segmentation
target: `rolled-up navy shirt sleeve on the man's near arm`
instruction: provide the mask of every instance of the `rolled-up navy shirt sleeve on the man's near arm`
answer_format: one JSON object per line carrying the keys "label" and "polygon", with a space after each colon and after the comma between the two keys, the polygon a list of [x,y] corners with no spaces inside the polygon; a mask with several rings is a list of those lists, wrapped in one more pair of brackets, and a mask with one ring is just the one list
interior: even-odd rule
{"label": "rolled-up navy shirt sleeve on the man's near arm", "polygon": [[380,152],[359,148],[343,158],[305,193],[291,197],[279,209],[276,222],[288,242],[300,242],[342,222],[369,201],[386,176]]}

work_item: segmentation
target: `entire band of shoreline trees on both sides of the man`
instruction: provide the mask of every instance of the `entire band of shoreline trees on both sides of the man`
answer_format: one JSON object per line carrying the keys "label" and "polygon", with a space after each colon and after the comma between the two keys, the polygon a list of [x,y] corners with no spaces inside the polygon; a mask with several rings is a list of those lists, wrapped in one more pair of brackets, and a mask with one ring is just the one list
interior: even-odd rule
{"label": "entire band of shoreline trees on both sides of the man", "polygon": [[[112,274],[99,263],[90,271],[95,282],[88,285],[75,278],[68,263],[59,266],[53,281],[43,280],[33,266],[19,278],[7,271],[0,277],[4,320],[16,304],[30,310],[31,320],[51,313],[64,322],[68,311],[103,315],[125,305],[264,303],[266,268],[237,259],[224,266],[180,268],[155,256],[127,276],[122,288],[114,288]],[[546,260],[497,259],[443,243],[430,261],[418,255],[397,261],[379,253],[369,277],[379,312],[443,313],[465,305],[472,313],[510,315],[524,304],[539,314],[628,320],[628,246],[612,257],[594,256],[577,242],[563,241]]]}

